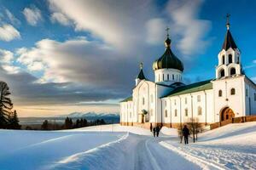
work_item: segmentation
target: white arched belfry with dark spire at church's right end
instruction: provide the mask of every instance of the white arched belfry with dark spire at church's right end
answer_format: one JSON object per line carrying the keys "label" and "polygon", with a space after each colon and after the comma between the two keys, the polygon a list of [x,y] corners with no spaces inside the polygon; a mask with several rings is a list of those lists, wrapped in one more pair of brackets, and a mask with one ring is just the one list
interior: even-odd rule
{"label": "white arched belfry with dark spire at church's right end", "polygon": [[218,53],[216,79],[241,75],[241,53],[230,32],[230,14],[226,15],[227,32],[221,51]]}

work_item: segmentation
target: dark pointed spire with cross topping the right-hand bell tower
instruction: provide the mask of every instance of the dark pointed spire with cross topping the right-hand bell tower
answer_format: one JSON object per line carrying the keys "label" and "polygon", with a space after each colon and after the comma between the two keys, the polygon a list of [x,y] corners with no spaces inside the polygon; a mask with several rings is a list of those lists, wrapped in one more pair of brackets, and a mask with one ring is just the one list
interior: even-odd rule
{"label": "dark pointed spire with cross topping the right-hand bell tower", "polygon": [[227,33],[224,39],[224,43],[222,45],[222,49],[228,50],[229,48],[236,49],[236,42],[234,41],[231,32],[230,32],[230,14],[226,15],[227,21],[226,21],[226,26],[227,26]]}

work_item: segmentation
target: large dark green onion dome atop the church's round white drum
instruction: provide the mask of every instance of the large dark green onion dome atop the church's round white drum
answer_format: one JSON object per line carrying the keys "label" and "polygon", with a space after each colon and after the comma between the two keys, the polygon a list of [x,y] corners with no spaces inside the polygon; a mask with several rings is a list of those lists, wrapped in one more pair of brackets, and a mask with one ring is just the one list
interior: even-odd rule
{"label": "large dark green onion dome atop the church's round white drum", "polygon": [[160,57],[160,59],[154,61],[153,70],[155,71],[159,69],[177,69],[179,71],[183,71],[183,63],[179,59],[177,59],[175,54],[172,53],[171,39],[168,37],[168,35],[165,43],[166,51]]}

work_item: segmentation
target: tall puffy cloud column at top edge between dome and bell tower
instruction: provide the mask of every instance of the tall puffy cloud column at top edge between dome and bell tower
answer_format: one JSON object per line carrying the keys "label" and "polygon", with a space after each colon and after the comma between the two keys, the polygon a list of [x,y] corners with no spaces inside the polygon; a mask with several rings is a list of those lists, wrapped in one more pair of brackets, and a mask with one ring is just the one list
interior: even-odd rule
{"label": "tall puffy cloud column at top edge between dome and bell tower", "polygon": [[199,20],[198,14],[202,0],[169,1],[166,12],[172,20],[171,32],[177,40],[177,48],[185,55],[200,54],[210,43],[206,39],[211,29],[209,20]]}

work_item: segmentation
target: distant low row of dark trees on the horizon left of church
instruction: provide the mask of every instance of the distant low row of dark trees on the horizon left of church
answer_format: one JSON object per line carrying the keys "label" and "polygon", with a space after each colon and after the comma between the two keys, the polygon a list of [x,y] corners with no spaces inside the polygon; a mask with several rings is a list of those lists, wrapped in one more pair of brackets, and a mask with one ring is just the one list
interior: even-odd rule
{"label": "distant low row of dark trees on the horizon left of church", "polygon": [[[61,130],[61,129],[72,129],[79,127],[90,127],[96,125],[104,125],[106,122],[103,119],[96,119],[95,121],[87,121],[85,118],[77,119],[73,122],[72,118],[67,117],[65,119],[64,124],[56,124],[55,122],[49,122],[48,120],[44,120],[41,125],[41,130]],[[28,127],[26,127],[28,130]]]}

